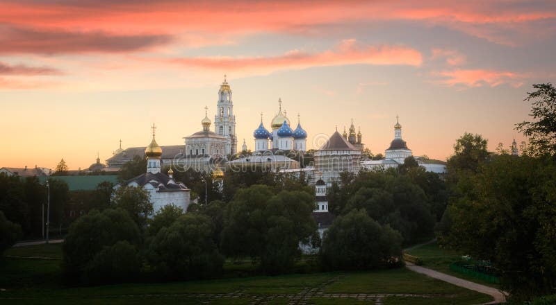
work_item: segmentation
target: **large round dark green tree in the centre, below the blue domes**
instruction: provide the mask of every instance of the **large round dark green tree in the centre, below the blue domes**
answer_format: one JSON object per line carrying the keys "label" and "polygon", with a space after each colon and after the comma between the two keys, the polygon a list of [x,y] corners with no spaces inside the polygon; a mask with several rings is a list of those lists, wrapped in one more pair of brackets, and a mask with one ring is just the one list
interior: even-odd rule
{"label": "large round dark green tree in the centre, below the blue domes", "polygon": [[227,204],[221,249],[231,257],[250,256],[270,274],[290,270],[300,256],[299,243],[316,235],[311,217],[313,195],[254,185],[240,189]]}

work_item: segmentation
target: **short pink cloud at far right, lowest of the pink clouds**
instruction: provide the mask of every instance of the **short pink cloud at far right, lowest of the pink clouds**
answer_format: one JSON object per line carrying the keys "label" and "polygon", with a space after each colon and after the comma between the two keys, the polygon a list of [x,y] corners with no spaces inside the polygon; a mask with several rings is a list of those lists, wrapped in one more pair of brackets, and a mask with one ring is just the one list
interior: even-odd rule
{"label": "short pink cloud at far right, lowest of the pink clouds", "polygon": [[509,71],[494,71],[486,69],[452,70],[439,73],[443,76],[440,81],[443,85],[464,86],[464,87],[496,87],[502,84],[509,84],[513,87],[521,87],[525,76]]}

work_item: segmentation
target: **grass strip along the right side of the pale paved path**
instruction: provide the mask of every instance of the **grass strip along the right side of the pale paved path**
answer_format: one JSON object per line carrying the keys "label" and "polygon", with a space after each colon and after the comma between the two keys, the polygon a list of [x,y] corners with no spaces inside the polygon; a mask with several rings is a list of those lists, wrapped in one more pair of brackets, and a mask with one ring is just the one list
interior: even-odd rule
{"label": "grass strip along the right side of the pale paved path", "polygon": [[420,257],[420,259],[423,260],[423,267],[443,272],[447,275],[453,275],[454,277],[459,277],[461,279],[466,279],[468,281],[473,281],[478,284],[500,289],[500,285],[498,284],[492,284],[488,281],[450,270],[450,263],[461,261],[461,253],[441,249],[437,243],[430,243],[428,245],[423,245],[416,249],[409,250],[407,251],[407,254]]}

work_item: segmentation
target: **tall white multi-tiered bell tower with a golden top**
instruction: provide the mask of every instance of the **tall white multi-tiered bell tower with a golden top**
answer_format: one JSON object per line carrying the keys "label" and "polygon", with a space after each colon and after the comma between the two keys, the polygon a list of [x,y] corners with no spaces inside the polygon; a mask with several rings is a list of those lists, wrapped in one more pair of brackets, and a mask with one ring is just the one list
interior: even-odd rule
{"label": "tall white multi-tiered bell tower with a golden top", "polygon": [[214,131],[229,140],[226,153],[228,155],[235,155],[238,150],[236,116],[234,115],[234,103],[231,100],[231,89],[226,75],[224,75],[224,82],[222,82],[220,90],[218,90],[218,103],[216,109],[218,113],[215,115],[214,119]]}

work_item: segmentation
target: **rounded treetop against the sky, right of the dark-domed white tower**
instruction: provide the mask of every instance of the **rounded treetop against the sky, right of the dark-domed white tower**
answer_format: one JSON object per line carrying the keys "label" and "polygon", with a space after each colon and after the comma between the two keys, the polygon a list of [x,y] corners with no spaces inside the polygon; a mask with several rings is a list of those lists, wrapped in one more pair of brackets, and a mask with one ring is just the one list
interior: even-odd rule
{"label": "rounded treetop against the sky, right of the dark-domed white tower", "polygon": [[489,157],[487,144],[480,134],[465,132],[454,144],[454,155],[448,159],[448,172],[476,171],[480,162]]}

